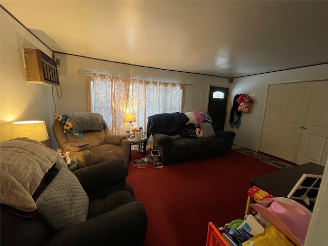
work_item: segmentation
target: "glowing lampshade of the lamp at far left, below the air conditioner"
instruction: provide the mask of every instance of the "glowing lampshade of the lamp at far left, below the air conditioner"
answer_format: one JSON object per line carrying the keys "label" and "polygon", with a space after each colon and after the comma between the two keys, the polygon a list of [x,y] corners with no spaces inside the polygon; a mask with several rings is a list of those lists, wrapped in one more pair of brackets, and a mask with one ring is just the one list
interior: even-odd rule
{"label": "glowing lampshade of the lamp at far left, below the air conditioner", "polygon": [[49,139],[45,121],[16,121],[12,124],[14,126],[14,137],[27,137],[37,141]]}

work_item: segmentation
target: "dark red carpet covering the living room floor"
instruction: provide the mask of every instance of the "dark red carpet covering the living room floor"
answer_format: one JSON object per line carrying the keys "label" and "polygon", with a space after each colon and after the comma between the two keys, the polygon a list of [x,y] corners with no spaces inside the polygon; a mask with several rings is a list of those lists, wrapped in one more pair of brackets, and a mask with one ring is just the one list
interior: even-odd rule
{"label": "dark red carpet covering the living room floor", "polygon": [[209,221],[220,227],[243,218],[248,178],[278,170],[237,151],[161,169],[129,164],[127,181],[148,216],[146,246],[204,246]]}

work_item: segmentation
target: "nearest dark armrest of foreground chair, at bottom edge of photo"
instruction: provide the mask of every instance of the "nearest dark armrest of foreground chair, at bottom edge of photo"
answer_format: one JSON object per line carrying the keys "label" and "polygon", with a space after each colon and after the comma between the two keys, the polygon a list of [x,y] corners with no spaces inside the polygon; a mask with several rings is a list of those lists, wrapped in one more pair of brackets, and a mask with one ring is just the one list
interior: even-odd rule
{"label": "nearest dark armrest of foreground chair, at bottom edge of photo", "polygon": [[147,215],[138,201],[63,228],[45,245],[142,245],[147,232]]}

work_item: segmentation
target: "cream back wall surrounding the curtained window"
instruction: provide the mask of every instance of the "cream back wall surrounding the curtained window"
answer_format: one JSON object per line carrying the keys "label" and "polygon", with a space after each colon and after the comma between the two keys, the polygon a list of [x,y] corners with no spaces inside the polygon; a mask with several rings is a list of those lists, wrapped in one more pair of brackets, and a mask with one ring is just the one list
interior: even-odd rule
{"label": "cream back wall surrounding the curtained window", "polygon": [[186,86],[184,112],[192,110],[203,112],[206,110],[209,85],[229,87],[229,81],[226,78],[138,67],[60,53],[55,53],[55,56],[60,60],[58,69],[63,90],[63,96],[58,99],[59,110],[56,111],[57,114],[87,112],[86,77],[92,75],[78,74],[77,70],[80,68],[114,76],[192,84],[192,86]]}

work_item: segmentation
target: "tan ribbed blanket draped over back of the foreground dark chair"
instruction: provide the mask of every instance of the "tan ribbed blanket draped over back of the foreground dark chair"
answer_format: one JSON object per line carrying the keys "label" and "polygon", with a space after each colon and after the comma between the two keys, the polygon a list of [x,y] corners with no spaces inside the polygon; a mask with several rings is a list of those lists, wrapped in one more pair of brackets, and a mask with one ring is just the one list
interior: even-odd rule
{"label": "tan ribbed blanket draped over back of the foreground dark chair", "polygon": [[25,212],[36,210],[32,195],[49,169],[67,168],[54,150],[29,138],[0,142],[0,160],[1,203]]}

